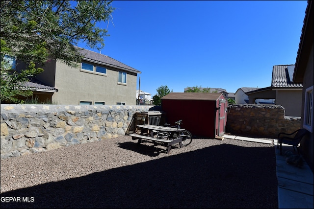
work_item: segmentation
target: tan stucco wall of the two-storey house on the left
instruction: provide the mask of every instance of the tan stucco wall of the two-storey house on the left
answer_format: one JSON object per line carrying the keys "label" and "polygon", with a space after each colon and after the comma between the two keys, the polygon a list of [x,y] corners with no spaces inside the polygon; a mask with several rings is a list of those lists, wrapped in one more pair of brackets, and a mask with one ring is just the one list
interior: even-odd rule
{"label": "tan stucco wall of the two-storey house on the left", "polygon": [[78,105],[79,101],[104,101],[106,105],[125,102],[126,105],[135,105],[136,73],[127,72],[127,84],[119,85],[119,70],[106,68],[106,75],[103,76],[80,71],[80,68],[69,68],[57,62],[54,88],[58,92],[53,94],[52,101],[73,105]]}

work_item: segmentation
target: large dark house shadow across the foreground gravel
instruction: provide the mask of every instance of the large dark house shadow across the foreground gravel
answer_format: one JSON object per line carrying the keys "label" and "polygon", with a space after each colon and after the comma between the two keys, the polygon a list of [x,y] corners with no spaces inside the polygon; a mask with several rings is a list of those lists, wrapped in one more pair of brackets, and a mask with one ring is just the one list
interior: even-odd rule
{"label": "large dark house shadow across the foreground gravel", "polygon": [[[3,197],[21,202],[2,202]],[[275,151],[210,146],[5,192],[1,208],[278,208]]]}

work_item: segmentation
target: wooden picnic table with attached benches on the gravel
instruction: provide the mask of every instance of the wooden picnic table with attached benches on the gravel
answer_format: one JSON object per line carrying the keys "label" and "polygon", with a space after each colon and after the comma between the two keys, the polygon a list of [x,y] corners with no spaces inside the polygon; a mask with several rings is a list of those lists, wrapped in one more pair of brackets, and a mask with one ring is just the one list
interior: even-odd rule
{"label": "wooden picnic table with attached benches on the gravel", "polygon": [[[141,130],[140,134],[138,133],[129,134],[129,136],[131,136],[132,139],[138,139],[137,144],[140,144],[142,139],[152,140],[153,142],[159,142],[160,144],[168,147],[167,154],[169,154],[172,144],[179,143],[180,148],[182,148],[183,138],[175,136],[179,136],[180,131],[183,131],[184,129],[157,125],[137,125],[137,127]],[[169,136],[167,137],[167,139],[159,139],[154,137],[156,132],[165,133]]]}

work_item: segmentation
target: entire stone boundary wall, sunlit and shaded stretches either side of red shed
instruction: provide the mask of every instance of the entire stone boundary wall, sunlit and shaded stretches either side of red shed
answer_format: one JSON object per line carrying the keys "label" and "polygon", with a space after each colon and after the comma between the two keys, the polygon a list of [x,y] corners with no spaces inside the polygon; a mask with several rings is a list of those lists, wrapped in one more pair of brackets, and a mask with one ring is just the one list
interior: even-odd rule
{"label": "entire stone boundary wall, sunlit and shaded stretches either side of red shed", "polygon": [[[159,106],[1,104],[1,159],[125,135],[137,111]],[[156,109],[157,108],[157,109]],[[204,111],[206,109],[204,108]],[[300,128],[280,105],[228,105],[226,132],[277,138]]]}

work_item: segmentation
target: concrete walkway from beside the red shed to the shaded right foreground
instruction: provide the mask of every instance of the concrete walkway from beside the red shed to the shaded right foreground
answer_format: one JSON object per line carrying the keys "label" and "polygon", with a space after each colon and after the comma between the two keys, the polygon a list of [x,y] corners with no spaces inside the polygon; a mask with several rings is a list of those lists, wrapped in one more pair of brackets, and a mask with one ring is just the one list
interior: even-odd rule
{"label": "concrete walkway from beside the red shed to the shaded right foreground", "polygon": [[[224,135],[227,139],[255,141],[261,143],[272,143],[271,140],[254,139],[248,137],[238,137]],[[278,180],[278,208],[279,209],[313,209],[314,178],[309,165],[303,160],[301,167],[288,164],[285,152],[287,150],[298,154],[291,145],[282,144],[282,153],[277,148],[277,139],[274,139],[276,155],[276,175]]]}

